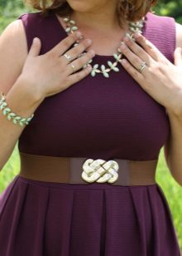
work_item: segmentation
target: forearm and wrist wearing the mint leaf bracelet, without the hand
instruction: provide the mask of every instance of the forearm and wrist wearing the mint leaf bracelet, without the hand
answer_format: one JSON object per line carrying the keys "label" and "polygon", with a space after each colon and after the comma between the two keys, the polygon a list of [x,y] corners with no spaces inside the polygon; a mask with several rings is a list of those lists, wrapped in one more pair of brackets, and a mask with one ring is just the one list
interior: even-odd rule
{"label": "forearm and wrist wearing the mint leaf bracelet, without the hand", "polygon": [[[12,111],[22,117],[31,116],[41,103],[31,96],[31,93],[21,82],[12,86],[12,89],[7,93],[6,100]],[[3,116],[2,111],[0,111],[0,170],[12,155],[12,150],[24,129],[25,126],[14,125],[12,121],[8,121],[7,116]]]}

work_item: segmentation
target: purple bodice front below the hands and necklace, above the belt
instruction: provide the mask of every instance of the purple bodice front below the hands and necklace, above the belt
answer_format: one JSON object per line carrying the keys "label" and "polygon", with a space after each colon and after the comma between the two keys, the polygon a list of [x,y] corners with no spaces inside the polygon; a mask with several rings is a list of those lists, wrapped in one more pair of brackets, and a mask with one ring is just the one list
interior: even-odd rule
{"label": "purple bodice front below the hands and necklace, above the belt", "polygon": [[163,106],[121,68],[111,79],[87,76],[46,98],[23,131],[20,149],[38,155],[150,160],[168,134]]}

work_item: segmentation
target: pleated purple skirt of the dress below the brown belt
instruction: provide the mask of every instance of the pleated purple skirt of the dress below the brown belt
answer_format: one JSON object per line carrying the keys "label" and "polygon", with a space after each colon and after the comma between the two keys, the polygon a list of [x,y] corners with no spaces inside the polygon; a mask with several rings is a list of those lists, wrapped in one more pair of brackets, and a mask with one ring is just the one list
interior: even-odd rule
{"label": "pleated purple skirt of the dress below the brown belt", "polygon": [[1,256],[179,256],[159,185],[69,185],[16,176],[0,197]]}

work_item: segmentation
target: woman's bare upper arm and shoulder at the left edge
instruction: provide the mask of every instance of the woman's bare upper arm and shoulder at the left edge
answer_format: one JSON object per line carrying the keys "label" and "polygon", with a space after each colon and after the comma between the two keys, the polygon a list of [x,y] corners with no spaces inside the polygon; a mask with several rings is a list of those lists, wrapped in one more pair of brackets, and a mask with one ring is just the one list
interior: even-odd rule
{"label": "woman's bare upper arm and shoulder at the left edge", "polygon": [[26,33],[22,20],[11,22],[0,37],[0,91],[7,93],[17,77],[27,57]]}

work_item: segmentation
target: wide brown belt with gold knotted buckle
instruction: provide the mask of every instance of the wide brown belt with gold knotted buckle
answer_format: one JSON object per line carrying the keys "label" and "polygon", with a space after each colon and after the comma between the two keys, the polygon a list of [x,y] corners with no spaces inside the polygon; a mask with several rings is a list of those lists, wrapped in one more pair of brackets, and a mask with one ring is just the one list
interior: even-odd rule
{"label": "wide brown belt with gold knotted buckle", "polygon": [[[156,184],[157,160],[113,159],[106,161],[79,157],[31,155],[22,152],[20,152],[20,158],[21,170],[19,175],[31,180],[89,184],[92,182],[103,183],[102,179],[104,180],[105,177],[112,180],[115,179],[115,176],[117,179],[115,182],[110,183],[111,181],[108,180],[107,183],[110,185]],[[101,165],[98,165],[100,163]],[[82,175],[89,181],[84,180]],[[93,181],[95,177],[97,180]],[[101,181],[98,181],[99,178]]]}

